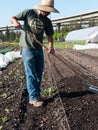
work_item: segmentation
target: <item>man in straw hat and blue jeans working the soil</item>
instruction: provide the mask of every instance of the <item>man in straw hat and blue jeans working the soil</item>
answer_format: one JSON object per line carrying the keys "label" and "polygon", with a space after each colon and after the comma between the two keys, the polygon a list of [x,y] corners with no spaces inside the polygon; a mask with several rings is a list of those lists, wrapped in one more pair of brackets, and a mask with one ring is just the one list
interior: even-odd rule
{"label": "man in straw hat and blue jeans working the soil", "polygon": [[[35,9],[24,10],[13,16],[10,21],[16,29],[21,29],[19,21],[24,21],[24,30],[34,34],[41,43],[45,32],[49,42],[48,53],[54,54],[52,37],[54,32],[52,23],[47,17],[51,12],[58,13],[58,10],[54,8],[54,0],[42,0],[41,4],[35,6]],[[42,46],[25,31],[21,33],[19,44],[22,48],[29,103],[40,107],[43,105],[43,101],[40,100],[40,83],[44,67]]]}

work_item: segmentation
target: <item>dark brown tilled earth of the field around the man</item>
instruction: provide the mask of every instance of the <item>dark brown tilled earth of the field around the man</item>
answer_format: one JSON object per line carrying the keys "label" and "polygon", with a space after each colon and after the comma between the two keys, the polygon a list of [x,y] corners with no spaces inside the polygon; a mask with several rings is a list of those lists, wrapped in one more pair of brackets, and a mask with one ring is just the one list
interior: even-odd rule
{"label": "dark brown tilled earth of the field around the man", "polygon": [[[41,89],[45,104],[28,103],[22,59],[0,74],[0,130],[98,130],[98,94],[88,86],[98,86],[98,50],[56,49],[45,54]],[[96,91],[97,92],[97,91]]]}

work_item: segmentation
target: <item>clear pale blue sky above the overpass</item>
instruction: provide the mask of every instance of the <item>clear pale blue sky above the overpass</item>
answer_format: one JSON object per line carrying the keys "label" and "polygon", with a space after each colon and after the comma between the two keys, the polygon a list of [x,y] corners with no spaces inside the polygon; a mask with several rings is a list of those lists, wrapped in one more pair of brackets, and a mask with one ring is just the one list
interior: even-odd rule
{"label": "clear pale blue sky above the overpass", "polygon": [[[25,9],[33,9],[40,2],[41,0],[1,0],[0,27],[12,26],[12,16]],[[60,13],[51,13],[51,20],[98,10],[98,0],[55,0],[54,3]]]}

